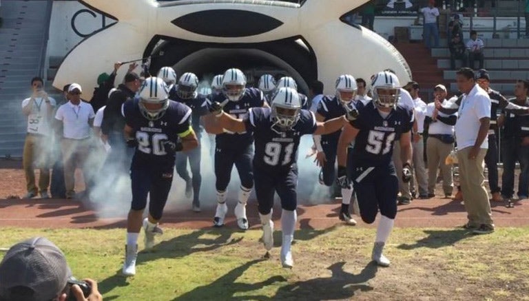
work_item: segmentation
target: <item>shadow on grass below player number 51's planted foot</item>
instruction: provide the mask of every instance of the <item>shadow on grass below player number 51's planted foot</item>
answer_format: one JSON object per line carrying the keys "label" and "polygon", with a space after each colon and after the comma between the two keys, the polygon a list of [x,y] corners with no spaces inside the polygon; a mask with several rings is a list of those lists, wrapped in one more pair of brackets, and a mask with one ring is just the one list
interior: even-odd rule
{"label": "shadow on grass below player number 51's planted foot", "polygon": [[344,271],[344,264],[336,262],[328,267],[332,272],[331,277],[298,281],[280,287],[269,300],[349,300],[359,289],[373,290],[367,282],[375,278],[378,271],[375,262],[367,264],[357,275]]}

